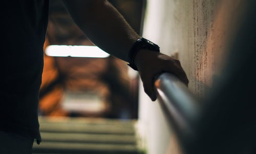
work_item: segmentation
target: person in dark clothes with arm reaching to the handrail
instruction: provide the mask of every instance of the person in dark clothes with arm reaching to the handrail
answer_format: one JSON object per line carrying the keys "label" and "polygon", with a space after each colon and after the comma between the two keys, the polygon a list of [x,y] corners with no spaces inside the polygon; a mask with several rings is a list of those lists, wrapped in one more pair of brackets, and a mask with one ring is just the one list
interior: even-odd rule
{"label": "person in dark clothes with arm reaching to the handrail", "polygon": [[[144,91],[153,101],[154,76],[161,72],[172,72],[188,84],[180,62],[159,53],[156,45],[136,34],[108,1],[62,2],[95,45],[139,71]],[[33,140],[41,141],[37,108],[49,0],[1,3],[0,153],[31,153]]]}

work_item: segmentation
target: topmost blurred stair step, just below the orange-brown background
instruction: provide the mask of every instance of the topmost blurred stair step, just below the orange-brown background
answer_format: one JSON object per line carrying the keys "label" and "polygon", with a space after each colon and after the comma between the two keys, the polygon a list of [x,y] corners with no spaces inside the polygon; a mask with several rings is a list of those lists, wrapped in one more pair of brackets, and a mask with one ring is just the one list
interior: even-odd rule
{"label": "topmost blurred stair step, just below the orange-brown background", "polygon": [[135,120],[40,117],[40,132],[134,135]]}

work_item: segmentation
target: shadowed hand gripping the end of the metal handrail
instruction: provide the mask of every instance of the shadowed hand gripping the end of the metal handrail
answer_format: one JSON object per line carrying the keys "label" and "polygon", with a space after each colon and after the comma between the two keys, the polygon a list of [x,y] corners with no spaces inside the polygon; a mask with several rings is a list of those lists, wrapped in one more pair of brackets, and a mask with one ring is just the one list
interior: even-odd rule
{"label": "shadowed hand gripping the end of the metal handrail", "polygon": [[188,85],[186,73],[181,67],[180,61],[167,55],[142,49],[135,57],[135,65],[138,68],[145,93],[155,101],[157,96],[154,89],[154,78],[162,72],[175,74],[185,85]]}

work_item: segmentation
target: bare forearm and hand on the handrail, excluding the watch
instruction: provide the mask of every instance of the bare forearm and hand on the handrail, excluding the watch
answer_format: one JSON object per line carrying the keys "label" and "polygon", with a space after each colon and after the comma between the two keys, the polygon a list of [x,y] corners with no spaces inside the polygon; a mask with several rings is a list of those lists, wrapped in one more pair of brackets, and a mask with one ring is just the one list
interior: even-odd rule
{"label": "bare forearm and hand on the handrail, excluding the watch", "polygon": [[[127,61],[132,45],[140,38],[122,15],[106,0],[62,0],[78,27],[105,52]],[[185,84],[188,80],[180,62],[161,53],[142,49],[135,57],[145,93],[156,100],[154,77],[171,72]]]}

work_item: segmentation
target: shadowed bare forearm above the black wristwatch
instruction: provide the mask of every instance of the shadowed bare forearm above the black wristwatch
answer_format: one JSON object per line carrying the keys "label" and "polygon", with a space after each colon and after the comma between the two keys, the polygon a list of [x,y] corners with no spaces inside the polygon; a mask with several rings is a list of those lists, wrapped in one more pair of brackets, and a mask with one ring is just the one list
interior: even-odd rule
{"label": "shadowed bare forearm above the black wristwatch", "polygon": [[127,61],[139,35],[105,0],[63,0],[72,18],[88,38],[105,52]]}

